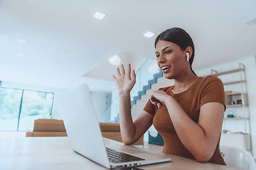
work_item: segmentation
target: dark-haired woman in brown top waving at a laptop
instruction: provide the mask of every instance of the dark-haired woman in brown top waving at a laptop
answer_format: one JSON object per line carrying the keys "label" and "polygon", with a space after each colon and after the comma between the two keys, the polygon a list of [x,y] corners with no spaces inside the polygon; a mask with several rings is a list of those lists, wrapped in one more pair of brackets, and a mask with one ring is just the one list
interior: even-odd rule
{"label": "dark-haired woman in brown top waving at a laptop", "polygon": [[195,49],[181,28],[164,31],[155,41],[157,64],[174,86],[154,91],[139,117],[132,120],[130,91],[136,75],[131,65],[114,77],[119,91],[120,129],[125,145],[136,142],[154,124],[164,139],[164,153],[225,165],[219,142],[225,111],[223,83],[192,70]]}

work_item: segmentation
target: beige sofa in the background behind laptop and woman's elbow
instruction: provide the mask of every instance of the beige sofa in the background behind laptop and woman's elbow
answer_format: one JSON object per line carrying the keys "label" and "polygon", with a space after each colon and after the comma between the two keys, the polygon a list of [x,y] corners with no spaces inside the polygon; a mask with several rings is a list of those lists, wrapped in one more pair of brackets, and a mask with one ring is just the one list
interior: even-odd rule
{"label": "beige sofa in the background behind laptop and woman's elbow", "polygon": [[[102,136],[110,140],[122,142],[119,123],[100,123]],[[67,132],[63,120],[34,120],[33,132],[26,132],[26,137],[66,137]],[[143,145],[143,136],[134,145]]]}

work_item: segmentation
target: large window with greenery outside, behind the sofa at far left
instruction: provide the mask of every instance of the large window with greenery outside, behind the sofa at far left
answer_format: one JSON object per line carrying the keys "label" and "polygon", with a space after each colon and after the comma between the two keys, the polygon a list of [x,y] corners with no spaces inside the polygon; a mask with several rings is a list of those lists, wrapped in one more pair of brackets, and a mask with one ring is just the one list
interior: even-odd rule
{"label": "large window with greenery outside, behind the sofa at far left", "polygon": [[53,93],[0,88],[0,130],[33,130],[34,120],[52,118]]}

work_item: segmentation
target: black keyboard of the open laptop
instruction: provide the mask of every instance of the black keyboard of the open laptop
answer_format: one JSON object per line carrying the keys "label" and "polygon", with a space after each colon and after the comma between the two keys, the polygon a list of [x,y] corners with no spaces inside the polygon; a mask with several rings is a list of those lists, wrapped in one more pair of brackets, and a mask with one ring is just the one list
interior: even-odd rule
{"label": "black keyboard of the open laptop", "polygon": [[122,162],[135,162],[135,161],[143,161],[145,159],[139,158],[139,157],[134,157],[130,154],[125,154],[124,152],[119,152],[114,149],[110,149],[106,147],[107,150],[107,156],[110,159],[110,162],[117,164],[117,163],[122,163]]}

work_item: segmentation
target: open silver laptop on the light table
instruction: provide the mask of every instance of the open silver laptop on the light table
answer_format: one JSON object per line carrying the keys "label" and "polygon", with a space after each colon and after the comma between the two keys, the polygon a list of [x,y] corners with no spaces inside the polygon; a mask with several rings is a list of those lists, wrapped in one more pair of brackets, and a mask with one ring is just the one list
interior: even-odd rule
{"label": "open silver laptop on the light table", "polygon": [[[70,145],[75,152],[93,162],[101,164],[107,169],[116,169],[171,161],[164,154],[154,154],[141,151],[141,149],[134,149],[132,153],[135,154],[132,155],[105,147],[87,84],[68,89],[57,96],[57,99]],[[140,152],[143,153],[140,154]],[[149,154],[150,159],[149,157],[146,158],[146,155]],[[143,157],[140,157],[141,155]]]}

